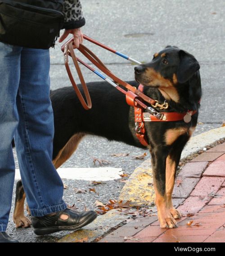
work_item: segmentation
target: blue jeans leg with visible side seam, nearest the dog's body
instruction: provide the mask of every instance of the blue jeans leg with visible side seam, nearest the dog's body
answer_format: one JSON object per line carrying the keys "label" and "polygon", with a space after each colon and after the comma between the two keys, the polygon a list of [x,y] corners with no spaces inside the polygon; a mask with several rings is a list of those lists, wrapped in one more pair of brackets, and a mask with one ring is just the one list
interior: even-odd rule
{"label": "blue jeans leg with visible side seam, nearest the dog's body", "polygon": [[63,183],[52,164],[54,119],[49,98],[49,50],[23,48],[15,133],[19,169],[33,216],[66,209]]}

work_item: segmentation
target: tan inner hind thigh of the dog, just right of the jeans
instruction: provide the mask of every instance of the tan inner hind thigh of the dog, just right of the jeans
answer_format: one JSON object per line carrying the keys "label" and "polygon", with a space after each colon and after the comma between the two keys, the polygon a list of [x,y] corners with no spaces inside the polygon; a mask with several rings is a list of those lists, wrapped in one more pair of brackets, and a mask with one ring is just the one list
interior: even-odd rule
{"label": "tan inner hind thigh of the dog, just right of the jeans", "polygon": [[67,144],[59,151],[58,155],[52,161],[56,169],[71,157],[85,135],[85,133],[77,133],[69,139]]}

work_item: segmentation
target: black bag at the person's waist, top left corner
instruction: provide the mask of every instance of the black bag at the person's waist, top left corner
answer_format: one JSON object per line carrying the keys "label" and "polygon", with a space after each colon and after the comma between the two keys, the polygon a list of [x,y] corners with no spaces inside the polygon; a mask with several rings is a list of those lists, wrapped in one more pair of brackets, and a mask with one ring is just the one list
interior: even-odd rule
{"label": "black bag at the person's waist, top left corner", "polygon": [[54,47],[63,27],[63,0],[0,0],[0,41],[37,49]]}

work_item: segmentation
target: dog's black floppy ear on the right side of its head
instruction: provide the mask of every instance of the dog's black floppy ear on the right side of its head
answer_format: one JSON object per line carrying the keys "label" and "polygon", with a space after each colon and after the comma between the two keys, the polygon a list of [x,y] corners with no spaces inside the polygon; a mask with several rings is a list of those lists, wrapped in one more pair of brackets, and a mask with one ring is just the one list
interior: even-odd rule
{"label": "dog's black floppy ear on the right side of its head", "polygon": [[200,69],[197,59],[184,50],[179,51],[180,64],[177,69],[177,80],[179,83],[187,82],[193,74]]}

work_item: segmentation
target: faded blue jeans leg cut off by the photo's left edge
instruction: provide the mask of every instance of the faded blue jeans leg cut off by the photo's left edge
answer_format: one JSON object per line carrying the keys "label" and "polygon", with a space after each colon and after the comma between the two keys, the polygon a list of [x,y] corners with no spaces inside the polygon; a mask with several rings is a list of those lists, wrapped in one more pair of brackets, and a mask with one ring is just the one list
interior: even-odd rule
{"label": "faded blue jeans leg cut off by the photo's left edge", "polygon": [[7,228],[12,205],[15,164],[11,142],[18,125],[21,50],[0,42],[0,232]]}

